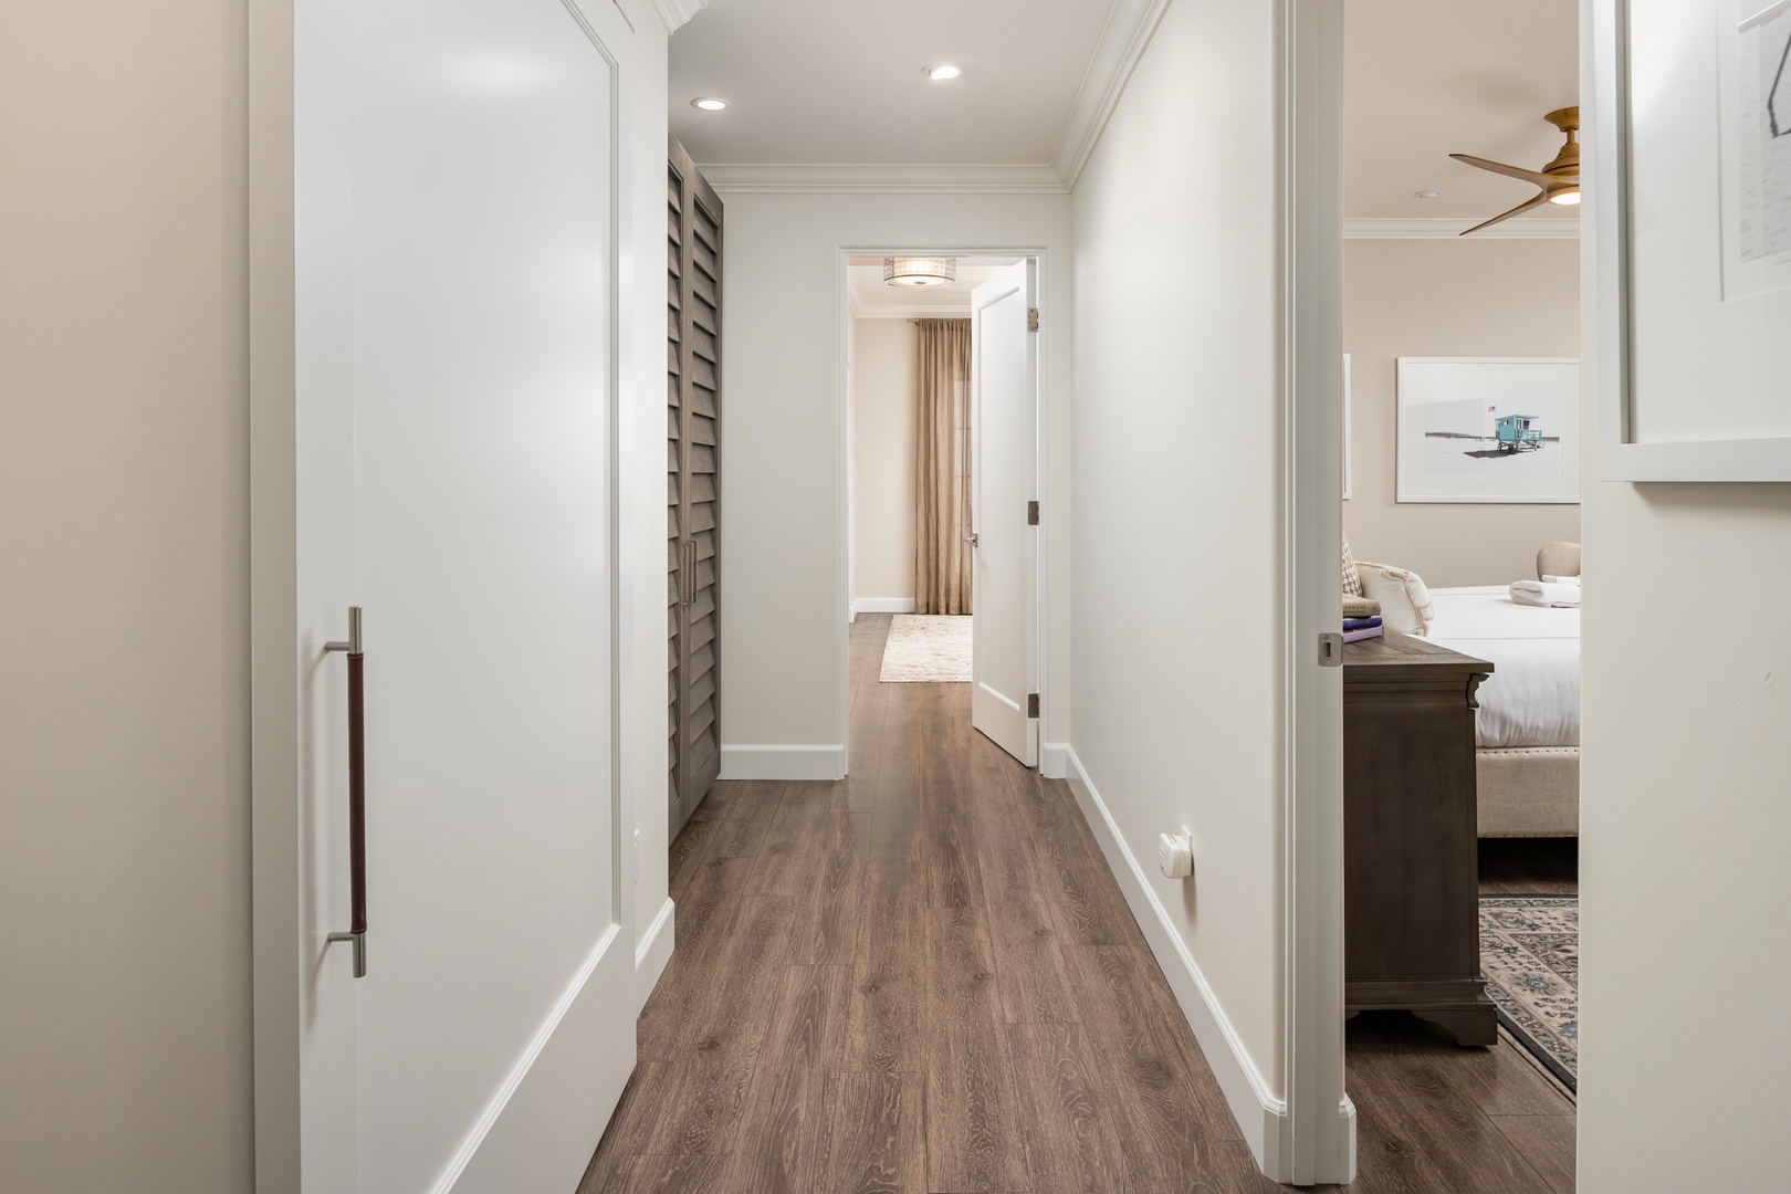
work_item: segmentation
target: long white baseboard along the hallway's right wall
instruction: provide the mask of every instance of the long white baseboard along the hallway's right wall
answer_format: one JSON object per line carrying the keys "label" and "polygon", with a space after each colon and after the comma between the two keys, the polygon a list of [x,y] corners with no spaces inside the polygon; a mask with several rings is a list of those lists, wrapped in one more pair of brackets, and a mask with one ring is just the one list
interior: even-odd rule
{"label": "long white baseboard along the hallway's right wall", "polygon": [[1101,843],[1101,854],[1107,856],[1107,865],[1112,868],[1114,879],[1119,881],[1119,890],[1125,893],[1139,929],[1144,931],[1150,952],[1157,956],[1157,965],[1170,979],[1170,988],[1175,992],[1177,1002],[1182,1004],[1187,1026],[1195,1029],[1195,1040],[1200,1042],[1200,1051],[1207,1056],[1220,1090],[1225,1092],[1225,1103],[1230,1106],[1232,1119],[1238,1121],[1238,1130],[1243,1131],[1243,1139],[1250,1144],[1250,1153],[1263,1173],[1284,1181],[1282,1171],[1291,1162],[1288,1104],[1270,1094],[1268,1083],[1257,1072],[1243,1042],[1238,1040],[1238,1031],[1200,972],[1200,965],[1171,927],[1162,900],[1157,899],[1157,891],[1144,877],[1144,868],[1127,847],[1119,825],[1082,768],[1082,759],[1076,757],[1073,746],[1062,750],[1069,770],[1069,789],[1076,793],[1082,816],[1094,831],[1094,840]]}

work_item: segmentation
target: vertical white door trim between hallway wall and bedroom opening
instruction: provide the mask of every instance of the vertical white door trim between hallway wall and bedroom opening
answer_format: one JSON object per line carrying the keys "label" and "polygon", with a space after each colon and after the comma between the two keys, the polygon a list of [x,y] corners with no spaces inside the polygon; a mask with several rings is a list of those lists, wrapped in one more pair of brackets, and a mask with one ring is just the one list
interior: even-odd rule
{"label": "vertical white door trim between hallway wall and bedroom opening", "polygon": [[1343,671],[1318,664],[1341,625],[1343,5],[1281,0],[1282,401],[1286,403],[1286,693],[1281,1181],[1349,1181],[1356,1119],[1343,1094]]}

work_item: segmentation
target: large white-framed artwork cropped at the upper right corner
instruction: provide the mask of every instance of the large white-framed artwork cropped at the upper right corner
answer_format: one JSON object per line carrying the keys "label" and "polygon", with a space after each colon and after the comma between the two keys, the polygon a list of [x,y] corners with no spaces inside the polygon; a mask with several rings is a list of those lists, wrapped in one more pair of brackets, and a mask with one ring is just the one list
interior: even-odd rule
{"label": "large white-framed artwork cropped at the upper right corner", "polygon": [[1598,474],[1791,480],[1791,0],[1594,0]]}

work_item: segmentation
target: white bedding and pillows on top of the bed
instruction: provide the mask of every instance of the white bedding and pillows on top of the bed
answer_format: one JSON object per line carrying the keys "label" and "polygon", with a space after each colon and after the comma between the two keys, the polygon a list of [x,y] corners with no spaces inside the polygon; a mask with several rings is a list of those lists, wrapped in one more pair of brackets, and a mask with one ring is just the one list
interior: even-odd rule
{"label": "white bedding and pillows on top of the bed", "polygon": [[1431,589],[1431,643],[1494,666],[1479,686],[1481,746],[1580,745],[1578,609],[1519,605],[1504,585]]}

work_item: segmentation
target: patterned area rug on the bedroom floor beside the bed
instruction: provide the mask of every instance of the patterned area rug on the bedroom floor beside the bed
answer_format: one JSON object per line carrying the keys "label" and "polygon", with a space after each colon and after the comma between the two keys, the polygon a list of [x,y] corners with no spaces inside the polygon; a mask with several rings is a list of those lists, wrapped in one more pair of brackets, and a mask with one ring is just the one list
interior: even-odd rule
{"label": "patterned area rug on the bedroom floor beside the bed", "polygon": [[1499,1024],[1580,1090],[1580,897],[1481,895],[1479,965]]}

